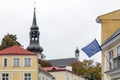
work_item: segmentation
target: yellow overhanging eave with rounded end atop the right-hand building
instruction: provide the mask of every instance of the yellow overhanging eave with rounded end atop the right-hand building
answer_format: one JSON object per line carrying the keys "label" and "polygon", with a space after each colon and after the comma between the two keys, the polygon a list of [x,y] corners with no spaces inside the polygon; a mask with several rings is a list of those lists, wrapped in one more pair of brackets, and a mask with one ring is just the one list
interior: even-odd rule
{"label": "yellow overhanging eave with rounded end atop the right-hand building", "polygon": [[103,19],[120,19],[120,9],[116,10],[116,11],[112,11],[112,12],[104,14],[104,15],[101,15],[101,16],[98,16],[96,21],[99,23]]}

